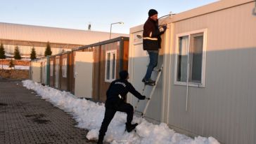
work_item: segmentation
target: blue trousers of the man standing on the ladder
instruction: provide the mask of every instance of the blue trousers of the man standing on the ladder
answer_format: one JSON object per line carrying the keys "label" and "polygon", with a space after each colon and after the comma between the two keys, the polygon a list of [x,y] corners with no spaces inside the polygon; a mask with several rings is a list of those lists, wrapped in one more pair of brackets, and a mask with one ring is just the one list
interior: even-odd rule
{"label": "blue trousers of the man standing on the ladder", "polygon": [[155,66],[158,65],[158,50],[148,50],[148,55],[149,55],[149,64],[148,64],[148,69],[146,71],[146,75],[144,77],[145,80],[149,80],[151,78],[151,74]]}

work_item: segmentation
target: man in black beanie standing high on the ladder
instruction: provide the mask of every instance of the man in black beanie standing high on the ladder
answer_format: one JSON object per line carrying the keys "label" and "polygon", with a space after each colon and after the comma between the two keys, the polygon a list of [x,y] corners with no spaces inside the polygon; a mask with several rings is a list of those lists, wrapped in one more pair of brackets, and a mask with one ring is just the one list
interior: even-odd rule
{"label": "man in black beanie standing high on the ladder", "polygon": [[158,65],[158,50],[161,48],[161,35],[165,33],[167,27],[158,27],[158,11],[151,9],[148,11],[148,20],[143,26],[143,50],[148,51],[149,64],[146,75],[142,79],[145,85],[155,85],[151,80],[151,74],[155,66]]}

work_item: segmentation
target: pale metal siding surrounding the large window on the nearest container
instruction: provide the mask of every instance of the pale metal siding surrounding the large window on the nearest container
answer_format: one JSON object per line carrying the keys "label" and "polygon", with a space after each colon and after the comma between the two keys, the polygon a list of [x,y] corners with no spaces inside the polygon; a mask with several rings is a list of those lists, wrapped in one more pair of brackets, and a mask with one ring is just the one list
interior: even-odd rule
{"label": "pale metal siding surrounding the large window on the nearest container", "polygon": [[186,86],[174,85],[172,55],[169,125],[221,143],[256,143],[254,6],[247,3],[174,23],[174,37],[207,28],[207,57],[205,88],[189,87],[186,112]]}

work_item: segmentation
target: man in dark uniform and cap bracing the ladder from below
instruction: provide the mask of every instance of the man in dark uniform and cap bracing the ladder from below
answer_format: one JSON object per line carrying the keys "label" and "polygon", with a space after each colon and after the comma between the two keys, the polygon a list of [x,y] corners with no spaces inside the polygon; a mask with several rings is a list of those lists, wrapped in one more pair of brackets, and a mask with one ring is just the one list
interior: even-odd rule
{"label": "man in dark uniform and cap bracing the ladder from below", "polygon": [[137,123],[132,124],[134,108],[131,104],[125,102],[125,97],[128,92],[131,92],[138,99],[145,99],[146,96],[142,96],[136,91],[132,84],[127,81],[129,78],[129,73],[127,71],[120,71],[119,75],[120,79],[111,82],[107,91],[105,116],[98,134],[98,144],[103,143],[105,132],[108,130],[108,125],[117,111],[127,113],[127,122],[125,125],[128,132],[131,132],[138,125]]}

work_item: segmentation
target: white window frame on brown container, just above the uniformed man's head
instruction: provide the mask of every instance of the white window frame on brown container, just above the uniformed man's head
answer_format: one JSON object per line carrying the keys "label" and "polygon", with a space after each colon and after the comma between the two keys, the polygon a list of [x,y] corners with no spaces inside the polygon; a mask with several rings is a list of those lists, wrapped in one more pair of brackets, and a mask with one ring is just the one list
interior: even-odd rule
{"label": "white window frame on brown container, just above the uniformed man's head", "polygon": [[[110,79],[107,79],[107,67],[108,67],[108,57],[110,53]],[[113,72],[113,54],[115,54],[115,71]],[[106,50],[105,51],[105,82],[113,82],[116,79],[116,68],[117,68],[117,50]],[[114,78],[112,78],[114,73]]]}

